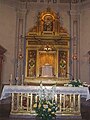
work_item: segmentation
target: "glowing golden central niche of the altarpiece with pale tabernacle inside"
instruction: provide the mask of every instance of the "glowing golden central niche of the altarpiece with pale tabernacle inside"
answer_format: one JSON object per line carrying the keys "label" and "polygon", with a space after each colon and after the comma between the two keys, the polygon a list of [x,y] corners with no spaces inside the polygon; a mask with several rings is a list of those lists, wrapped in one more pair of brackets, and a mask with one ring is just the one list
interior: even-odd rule
{"label": "glowing golden central niche of the altarpiece with pale tabernacle inside", "polygon": [[39,75],[53,77],[56,70],[56,51],[39,52]]}

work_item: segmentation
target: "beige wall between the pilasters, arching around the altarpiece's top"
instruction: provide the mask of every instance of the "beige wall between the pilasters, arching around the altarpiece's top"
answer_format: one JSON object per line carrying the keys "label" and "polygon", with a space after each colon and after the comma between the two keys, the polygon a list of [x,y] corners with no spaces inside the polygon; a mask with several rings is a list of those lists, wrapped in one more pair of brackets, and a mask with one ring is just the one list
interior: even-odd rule
{"label": "beige wall between the pilasters, arching around the altarpiece's top", "polygon": [[[63,4],[62,4],[63,5]],[[27,32],[29,31],[30,28],[32,28],[36,22],[37,22],[37,16],[39,12],[46,11],[47,7],[51,8],[51,11],[59,13],[60,17],[62,18],[63,21],[63,27],[69,31],[69,5],[63,5],[61,6],[60,4],[44,4],[44,3],[39,3],[39,4],[31,4],[28,15],[27,15]],[[60,19],[61,19],[60,18]]]}

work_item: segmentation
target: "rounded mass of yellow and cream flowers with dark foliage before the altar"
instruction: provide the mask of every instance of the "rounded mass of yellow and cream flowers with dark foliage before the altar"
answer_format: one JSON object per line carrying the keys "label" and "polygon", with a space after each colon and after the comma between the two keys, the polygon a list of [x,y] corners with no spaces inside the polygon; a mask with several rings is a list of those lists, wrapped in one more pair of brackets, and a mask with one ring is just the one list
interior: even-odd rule
{"label": "rounded mass of yellow and cream flowers with dark foliage before the altar", "polygon": [[37,117],[41,120],[52,120],[56,118],[57,105],[55,101],[41,99],[34,104]]}

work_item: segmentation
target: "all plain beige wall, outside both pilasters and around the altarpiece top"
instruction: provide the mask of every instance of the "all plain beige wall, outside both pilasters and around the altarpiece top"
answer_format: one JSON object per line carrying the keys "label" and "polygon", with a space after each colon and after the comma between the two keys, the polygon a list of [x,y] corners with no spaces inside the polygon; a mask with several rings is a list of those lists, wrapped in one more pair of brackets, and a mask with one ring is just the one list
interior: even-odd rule
{"label": "all plain beige wall, outside both pilasters and around the altarpiece top", "polygon": [[[26,32],[35,25],[39,11],[46,10],[47,4],[30,5],[27,16]],[[51,5],[50,8],[56,13],[59,12],[63,18],[63,26],[70,30],[69,25],[69,5]],[[0,44],[7,49],[5,62],[3,63],[2,81],[9,83],[10,74],[14,73],[14,51],[15,51],[15,32],[16,32],[16,11],[13,7],[0,4]],[[90,84],[90,71],[87,52],[90,50],[90,9],[82,8],[80,14],[80,75],[81,81]]]}

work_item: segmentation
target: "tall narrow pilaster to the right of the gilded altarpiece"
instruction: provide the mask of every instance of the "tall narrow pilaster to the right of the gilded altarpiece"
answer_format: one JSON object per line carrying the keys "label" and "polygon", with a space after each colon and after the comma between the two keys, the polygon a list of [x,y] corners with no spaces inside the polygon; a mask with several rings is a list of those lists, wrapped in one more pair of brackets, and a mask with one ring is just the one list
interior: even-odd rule
{"label": "tall narrow pilaster to the right of the gilded altarpiece", "polygon": [[70,7],[70,73],[75,79],[80,79],[80,5]]}

